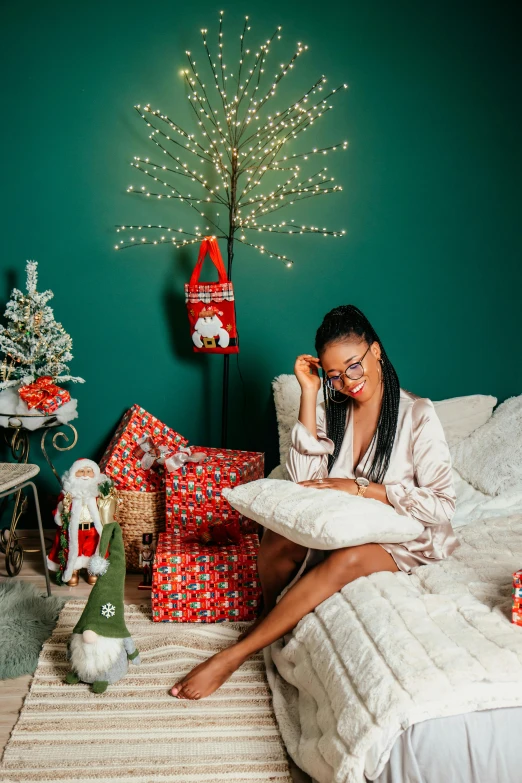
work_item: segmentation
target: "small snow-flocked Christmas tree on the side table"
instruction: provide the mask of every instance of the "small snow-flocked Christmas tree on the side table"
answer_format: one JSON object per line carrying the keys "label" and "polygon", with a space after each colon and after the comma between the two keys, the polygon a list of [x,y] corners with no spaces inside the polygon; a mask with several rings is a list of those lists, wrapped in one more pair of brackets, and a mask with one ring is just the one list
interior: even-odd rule
{"label": "small snow-flocked Christmas tree on the side table", "polygon": [[73,358],[72,339],[54,318],[47,302],[52,291],[38,292],[38,264],[27,262],[27,293],[14,288],[0,326],[0,389],[27,384],[42,375],[55,381],[84,383],[83,378],[69,374],[67,362]]}

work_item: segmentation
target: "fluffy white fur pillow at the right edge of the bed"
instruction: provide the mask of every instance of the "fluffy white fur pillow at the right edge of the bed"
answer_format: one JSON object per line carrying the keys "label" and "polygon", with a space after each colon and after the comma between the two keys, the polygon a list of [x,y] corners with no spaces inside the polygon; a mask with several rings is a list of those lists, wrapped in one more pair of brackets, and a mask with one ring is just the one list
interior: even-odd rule
{"label": "fluffy white fur pillow at the right edge of the bed", "polygon": [[522,487],[522,395],[499,405],[451,456],[462,478],[487,495]]}

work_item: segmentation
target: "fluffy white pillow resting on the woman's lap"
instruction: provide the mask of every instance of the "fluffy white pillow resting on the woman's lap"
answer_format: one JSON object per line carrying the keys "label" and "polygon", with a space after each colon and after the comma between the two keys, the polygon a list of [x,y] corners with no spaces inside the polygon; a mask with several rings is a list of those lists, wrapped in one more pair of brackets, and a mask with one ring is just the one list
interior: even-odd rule
{"label": "fluffy white pillow resting on the woman's lap", "polygon": [[378,500],[292,481],[259,479],[224,489],[223,495],[240,514],[313,549],[401,543],[424,530],[421,522]]}

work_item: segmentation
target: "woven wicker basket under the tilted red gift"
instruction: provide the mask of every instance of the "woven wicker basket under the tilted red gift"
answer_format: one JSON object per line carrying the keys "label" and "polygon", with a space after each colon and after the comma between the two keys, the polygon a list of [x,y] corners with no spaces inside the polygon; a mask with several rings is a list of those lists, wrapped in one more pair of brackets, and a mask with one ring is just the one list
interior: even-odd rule
{"label": "woven wicker basket under the tilted red gift", "polygon": [[118,490],[121,503],[116,519],[125,545],[127,571],[140,571],[140,549],[143,533],[152,533],[154,543],[165,530],[165,492]]}

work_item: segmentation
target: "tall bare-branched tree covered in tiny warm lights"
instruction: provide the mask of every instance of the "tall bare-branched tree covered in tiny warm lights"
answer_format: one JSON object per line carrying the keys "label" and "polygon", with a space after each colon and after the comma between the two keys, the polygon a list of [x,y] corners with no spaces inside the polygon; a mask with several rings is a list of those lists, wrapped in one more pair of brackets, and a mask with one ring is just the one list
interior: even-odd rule
{"label": "tall bare-branched tree covered in tiny warm lights", "polygon": [[[135,106],[151,128],[149,138],[156,147],[158,159],[134,158],[131,165],[147,178],[150,187],[131,185],[128,192],[141,198],[183,202],[197,216],[197,225],[192,229],[150,224],[117,226],[118,232],[125,232],[126,237],[116,245],[117,250],[150,244],[180,248],[200,242],[210,233],[227,241],[231,278],[235,242],[254,247],[260,253],[292,266],[292,260],[286,255],[259,244],[255,240],[256,233],[344,235],[343,230],[306,226],[294,218],[281,221],[275,213],[304,199],[342,190],[318,160],[329,152],[346,149],[348,142],[314,147],[306,152],[292,153],[289,147],[331,111],[334,95],[347,85],[328,91],[326,78],[321,76],[288,108],[270,113],[269,107],[277,96],[279,85],[308,47],[298,43],[290,60],[281,64],[278,72],[268,80],[266,61],[272,44],[281,38],[281,28],[278,27],[256,49],[247,48],[249,30],[246,17],[240,35],[236,75],[224,62],[223,11],[219,17],[216,56],[211,54],[206,29],[201,31],[206,67],[196,69],[196,61],[190,52],[186,53],[189,67],[183,75],[197,132],[188,133],[150,105]],[[210,85],[206,83],[203,71],[210,79]],[[211,92],[215,101],[211,100]],[[308,171],[305,173],[302,167]],[[220,220],[221,210],[226,213],[224,226]],[[228,356],[225,356],[223,392],[224,441]]]}

